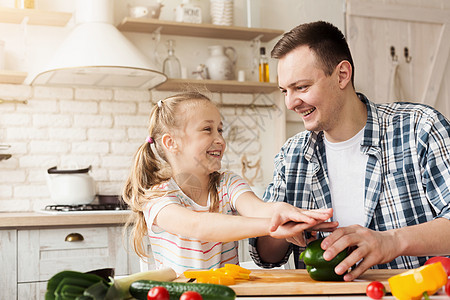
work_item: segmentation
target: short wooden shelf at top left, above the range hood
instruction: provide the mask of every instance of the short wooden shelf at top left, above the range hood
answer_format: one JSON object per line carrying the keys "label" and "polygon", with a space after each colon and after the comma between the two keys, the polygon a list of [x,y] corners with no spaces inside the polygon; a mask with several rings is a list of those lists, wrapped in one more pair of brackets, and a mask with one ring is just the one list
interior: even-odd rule
{"label": "short wooden shelf at top left, above the range hood", "polygon": [[27,24],[45,26],[66,26],[71,13],[38,9],[0,7],[0,22],[20,24],[28,17]]}

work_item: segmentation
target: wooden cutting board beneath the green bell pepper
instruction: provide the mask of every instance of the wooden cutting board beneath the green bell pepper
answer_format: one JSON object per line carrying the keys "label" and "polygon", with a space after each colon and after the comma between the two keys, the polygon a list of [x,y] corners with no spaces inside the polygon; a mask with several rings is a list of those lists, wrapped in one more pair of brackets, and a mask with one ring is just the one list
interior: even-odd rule
{"label": "wooden cutting board beneath the green bell pepper", "polygon": [[[387,279],[406,270],[368,270],[352,282],[315,281],[306,270],[251,270],[250,280],[230,287],[238,296],[365,294],[371,281],[380,281],[390,292]],[[187,279],[180,276],[176,281]]]}

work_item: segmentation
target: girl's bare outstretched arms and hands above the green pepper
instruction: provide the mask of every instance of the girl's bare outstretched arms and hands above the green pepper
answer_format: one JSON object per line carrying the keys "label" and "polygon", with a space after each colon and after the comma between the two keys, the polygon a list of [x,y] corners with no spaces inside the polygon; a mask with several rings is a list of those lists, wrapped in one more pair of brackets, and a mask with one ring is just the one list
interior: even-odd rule
{"label": "girl's bare outstretched arms and hands above the green pepper", "polygon": [[[266,235],[288,238],[331,217],[326,213],[328,210],[310,211],[283,202],[265,203],[253,192],[242,194],[236,202],[237,210],[247,215],[194,212],[178,204],[169,204],[159,211],[154,224],[168,232],[202,241],[229,242]],[[276,231],[273,229],[274,216]]]}

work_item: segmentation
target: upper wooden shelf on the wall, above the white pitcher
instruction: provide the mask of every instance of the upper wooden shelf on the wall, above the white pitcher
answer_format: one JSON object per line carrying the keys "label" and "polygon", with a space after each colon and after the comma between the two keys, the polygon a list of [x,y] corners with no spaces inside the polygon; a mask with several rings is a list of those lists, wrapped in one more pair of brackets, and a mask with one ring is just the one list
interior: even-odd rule
{"label": "upper wooden shelf on the wall, above the white pitcher", "polygon": [[213,24],[194,24],[163,21],[158,19],[125,18],[117,28],[121,31],[153,33],[160,29],[161,34],[203,37],[215,39],[251,41],[260,37],[261,42],[268,42],[283,34],[282,30],[248,28],[236,26],[219,26]]}

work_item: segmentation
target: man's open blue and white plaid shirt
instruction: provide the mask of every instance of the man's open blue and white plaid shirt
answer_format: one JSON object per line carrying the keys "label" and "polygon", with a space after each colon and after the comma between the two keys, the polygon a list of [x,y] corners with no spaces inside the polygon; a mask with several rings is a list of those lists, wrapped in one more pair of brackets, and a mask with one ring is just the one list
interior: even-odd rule
{"label": "man's open blue and white plaid shirt", "polygon": [[[417,103],[375,104],[358,94],[367,107],[361,151],[369,156],[365,178],[365,226],[385,231],[450,219],[450,124],[433,108]],[[350,162],[349,162],[350,163]],[[265,201],[285,201],[304,209],[331,207],[323,132],[301,132],[290,138],[275,157],[273,182]],[[250,255],[264,268],[286,263],[261,261],[257,239]],[[429,257],[400,256],[373,268],[417,268]]]}

